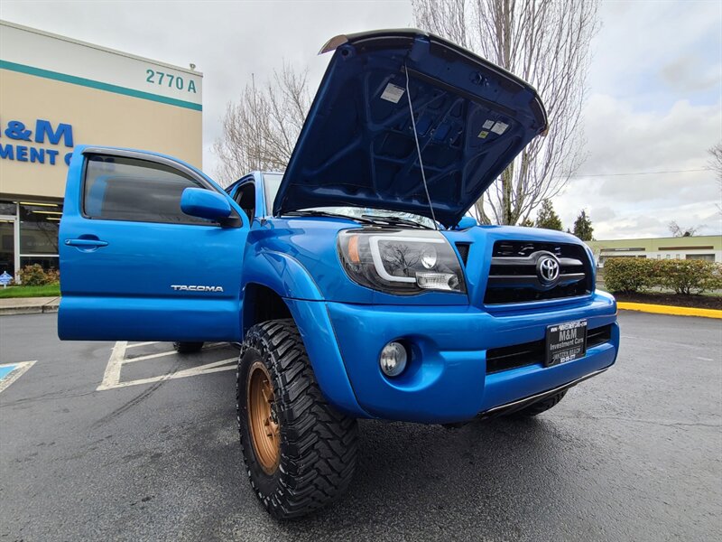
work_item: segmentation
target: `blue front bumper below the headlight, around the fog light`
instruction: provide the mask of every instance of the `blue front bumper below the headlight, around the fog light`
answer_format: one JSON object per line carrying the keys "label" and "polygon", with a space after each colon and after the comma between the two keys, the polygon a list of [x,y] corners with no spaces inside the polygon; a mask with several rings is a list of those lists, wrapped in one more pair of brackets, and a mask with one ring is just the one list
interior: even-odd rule
{"label": "blue front bumper below the headlight, around the fog light", "polygon": [[[606,369],[615,362],[619,347],[616,303],[603,293],[542,312],[490,314],[472,306],[326,307],[360,406],[356,415],[363,411],[367,416],[422,423],[468,420]],[[486,350],[542,340],[547,325],[580,318],[588,320],[589,330],[611,324],[611,340],[588,348],[579,360],[554,367],[537,363],[486,374]],[[412,357],[400,377],[386,378],[378,357],[393,340],[411,345]],[[322,363],[312,355],[311,361],[318,372]]]}

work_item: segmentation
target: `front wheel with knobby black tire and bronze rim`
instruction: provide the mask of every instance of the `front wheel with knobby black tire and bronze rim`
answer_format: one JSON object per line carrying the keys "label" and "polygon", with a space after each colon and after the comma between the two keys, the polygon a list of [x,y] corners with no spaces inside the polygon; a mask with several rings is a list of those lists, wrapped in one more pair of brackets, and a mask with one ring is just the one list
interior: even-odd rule
{"label": "front wheel with knobby black tire and bronze rim", "polygon": [[246,333],[236,409],[248,478],[274,518],[301,518],[346,491],[356,469],[356,419],[321,395],[292,320]]}

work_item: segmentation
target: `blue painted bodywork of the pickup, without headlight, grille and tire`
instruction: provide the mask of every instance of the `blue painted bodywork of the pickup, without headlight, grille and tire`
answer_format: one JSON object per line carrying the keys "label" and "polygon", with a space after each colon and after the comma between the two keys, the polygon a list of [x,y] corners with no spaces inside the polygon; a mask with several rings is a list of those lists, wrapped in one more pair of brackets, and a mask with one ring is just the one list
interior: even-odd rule
{"label": "blue painted bodywork of the pickup, without headlight, grille and tire", "polygon": [[[246,330],[266,318],[265,309],[256,310],[264,307],[256,304],[275,299],[296,323],[319,388],[332,406],[349,416],[434,424],[471,419],[613,364],[619,347],[616,302],[594,291],[593,255],[578,238],[511,226],[452,228],[546,127],[535,91],[440,39],[415,31],[392,33],[347,38],[334,53],[275,196],[275,212],[266,207],[271,198],[264,197],[263,173],[247,175],[224,192],[170,156],[76,145],[60,221],[60,339],[243,341]],[[405,89],[407,68],[412,77]],[[381,89],[393,89],[389,84],[416,102],[418,119],[412,122],[401,98],[379,96]],[[414,125],[431,172],[428,195],[420,189],[416,138],[408,135]],[[495,131],[494,126],[501,127]],[[216,202],[224,198],[224,212],[232,210],[242,223],[185,223],[162,213],[127,220],[104,216],[106,205],[116,204],[108,187],[126,182],[118,166],[128,159],[218,192],[204,198],[212,205],[197,199],[193,212],[219,210]],[[99,173],[98,163],[103,164]],[[99,174],[93,179],[103,184],[94,184],[84,196],[91,174]],[[147,178],[155,179],[155,173]],[[257,189],[253,220],[232,197],[249,182]],[[95,186],[102,193],[94,192]],[[189,193],[179,195],[181,208]],[[457,248],[467,247],[465,294],[399,295],[381,285],[360,285],[348,276],[338,252],[338,236],[358,229],[357,221],[282,216],[322,205],[430,216],[430,203],[447,227],[440,235],[459,262]],[[133,201],[123,205],[134,210]],[[391,224],[375,228],[404,232]],[[495,243],[504,241],[586,252],[586,294],[487,304]],[[277,317],[275,308],[270,314]],[[544,341],[550,325],[578,320],[586,320],[589,329],[610,325],[610,341],[559,366],[530,359],[523,367],[486,374],[487,350]],[[385,378],[378,364],[389,341],[404,341],[411,349],[409,369],[393,379]]]}

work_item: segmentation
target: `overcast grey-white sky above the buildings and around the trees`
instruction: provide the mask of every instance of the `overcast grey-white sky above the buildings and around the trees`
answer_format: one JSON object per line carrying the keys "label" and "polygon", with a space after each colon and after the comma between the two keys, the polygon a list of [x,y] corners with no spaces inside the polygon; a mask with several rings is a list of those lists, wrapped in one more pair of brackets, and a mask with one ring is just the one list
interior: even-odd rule
{"label": "overcast grey-white sky above the buildings and around the trees", "polygon": [[[282,60],[309,66],[318,85],[338,33],[413,26],[396,2],[12,2],[0,18],[203,72],[204,169],[220,119],[255,73]],[[555,201],[565,227],[580,209],[595,238],[669,234],[667,224],[722,234],[713,173],[700,170],[722,141],[722,2],[602,3],[584,112],[588,159]],[[613,176],[603,176],[611,175]]]}

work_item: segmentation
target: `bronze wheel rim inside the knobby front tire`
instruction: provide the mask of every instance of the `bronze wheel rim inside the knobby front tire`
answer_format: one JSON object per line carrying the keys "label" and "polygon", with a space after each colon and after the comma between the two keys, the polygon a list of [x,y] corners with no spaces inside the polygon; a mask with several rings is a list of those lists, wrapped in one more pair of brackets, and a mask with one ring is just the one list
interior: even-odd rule
{"label": "bronze wheel rim inside the knobby front tire", "polygon": [[251,366],[245,397],[258,463],[266,474],[273,474],[281,460],[281,426],[273,398],[273,381],[261,361]]}

